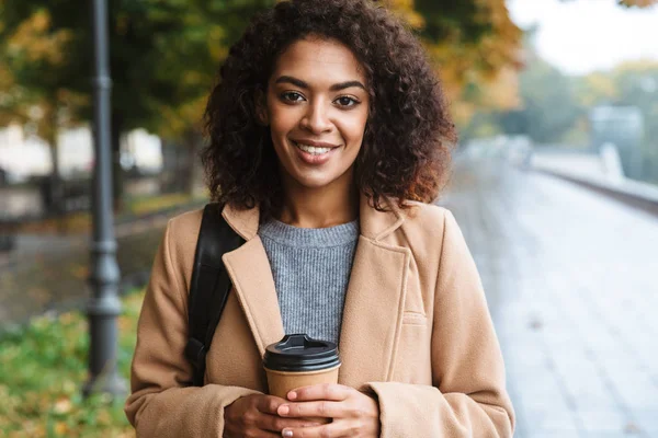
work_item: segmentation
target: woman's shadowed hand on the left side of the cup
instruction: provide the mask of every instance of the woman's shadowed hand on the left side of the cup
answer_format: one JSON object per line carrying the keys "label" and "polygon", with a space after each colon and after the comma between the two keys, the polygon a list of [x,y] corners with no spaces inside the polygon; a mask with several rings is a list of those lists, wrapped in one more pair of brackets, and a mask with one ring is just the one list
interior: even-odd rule
{"label": "woman's shadowed hand on the left side of the cup", "polygon": [[298,418],[282,418],[276,408],[286,403],[273,395],[252,394],[240,397],[224,408],[224,438],[281,437],[286,427],[303,428],[317,426]]}

